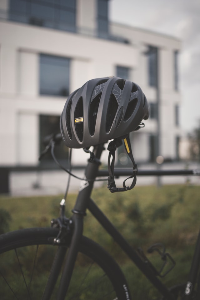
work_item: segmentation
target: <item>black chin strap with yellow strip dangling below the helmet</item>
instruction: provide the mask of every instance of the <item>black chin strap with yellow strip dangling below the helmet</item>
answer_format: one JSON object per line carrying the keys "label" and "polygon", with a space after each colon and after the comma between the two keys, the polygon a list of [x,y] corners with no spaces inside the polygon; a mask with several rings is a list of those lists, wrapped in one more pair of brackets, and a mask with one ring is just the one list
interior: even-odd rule
{"label": "black chin strap with yellow strip dangling below the helmet", "polygon": [[[109,151],[109,154],[108,154],[108,173],[109,173],[108,188],[112,193],[114,193],[114,192],[125,192],[125,191],[128,191],[128,190],[131,190],[136,184],[136,179],[137,179],[136,174],[138,172],[138,168],[137,168],[137,164],[135,163],[134,158],[133,158],[133,153],[132,153],[132,150],[131,150],[131,143],[130,143],[129,134],[126,138],[123,139],[123,141],[124,141],[124,146],[125,146],[126,152],[127,152],[129,158],[131,159],[131,161],[133,163],[133,174],[130,177],[128,177],[127,179],[133,178],[133,182],[130,185],[130,187],[127,187],[126,184],[125,184],[127,179],[125,179],[124,182],[123,182],[123,187],[116,187],[115,180],[114,180],[115,151],[119,146],[122,145],[122,140],[118,139],[118,138],[115,138],[108,145],[108,151]],[[113,158],[112,158],[112,161],[110,162],[111,156]]]}

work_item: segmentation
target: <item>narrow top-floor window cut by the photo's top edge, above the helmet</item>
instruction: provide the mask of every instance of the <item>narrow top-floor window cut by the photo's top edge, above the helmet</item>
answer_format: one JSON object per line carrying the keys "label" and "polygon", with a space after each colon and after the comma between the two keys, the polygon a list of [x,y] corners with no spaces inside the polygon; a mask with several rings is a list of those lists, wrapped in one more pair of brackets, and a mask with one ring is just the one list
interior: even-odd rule
{"label": "narrow top-floor window cut by the photo's top edge, above the helmet", "polygon": [[98,36],[108,38],[108,0],[97,0]]}

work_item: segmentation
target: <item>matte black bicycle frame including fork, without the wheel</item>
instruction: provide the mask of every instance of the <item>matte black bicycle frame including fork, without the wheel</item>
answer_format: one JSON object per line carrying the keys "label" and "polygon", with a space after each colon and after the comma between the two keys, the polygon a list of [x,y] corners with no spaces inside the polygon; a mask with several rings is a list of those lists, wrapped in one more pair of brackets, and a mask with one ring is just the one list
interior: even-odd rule
{"label": "matte black bicycle frame including fork, without the wheel", "polygon": [[[73,235],[72,235],[72,241],[68,250],[66,261],[64,262],[64,269],[61,277],[60,282],[60,288],[58,292],[58,299],[64,300],[65,295],[68,290],[68,286],[70,283],[70,278],[73,272],[73,267],[76,261],[77,253],[78,253],[78,246],[81,241],[81,237],[83,234],[83,218],[86,215],[86,210],[88,209],[92,215],[97,219],[97,221],[100,223],[100,225],[109,233],[111,237],[113,237],[114,241],[121,247],[123,252],[127,254],[127,256],[134,262],[134,264],[139,268],[141,272],[148,278],[148,280],[153,284],[153,286],[160,292],[160,294],[166,299],[166,300],[173,300],[174,296],[171,294],[171,292],[168,290],[168,288],[158,279],[155,272],[153,272],[151,266],[147,264],[145,260],[139,255],[139,253],[134,250],[129,243],[124,239],[124,237],[118,232],[118,230],[113,226],[113,224],[108,220],[108,218],[103,214],[103,212],[98,208],[98,206],[93,202],[91,199],[91,192],[93,189],[93,183],[95,178],[100,176],[106,176],[108,173],[103,170],[98,170],[100,165],[100,157],[102,154],[102,151],[104,150],[103,145],[98,145],[94,147],[94,154],[95,154],[95,160],[91,163],[88,162],[86,171],[85,171],[85,180],[83,180],[82,186],[79,190],[78,197],[75,203],[75,206],[72,210],[73,216],[71,218],[73,222]],[[116,171],[116,175],[127,175],[130,171],[120,172]],[[147,174],[145,175],[169,175],[169,171],[167,171],[168,174],[162,173],[162,170],[156,171],[155,174]],[[177,171],[176,175],[177,175]],[[170,175],[175,175],[175,172],[172,172]],[[183,173],[183,170],[181,170],[178,175],[184,174],[198,174],[199,170],[196,170],[196,173],[192,170],[186,170],[187,173]],[[193,173],[192,173],[193,172]],[[138,171],[139,173],[139,171]],[[128,174],[129,175],[129,174]],[[142,174],[138,174],[142,175]],[[143,174],[144,175],[144,174]],[[45,293],[43,295],[43,300],[48,299],[49,294],[51,293],[51,290],[53,289],[53,283],[58,278],[58,271],[61,268],[61,265],[64,260],[64,255],[66,250],[62,250],[63,247],[59,247],[55,263],[52,267],[52,271],[50,274],[50,280],[47,283],[47,287],[45,290]],[[199,269],[200,264],[200,233],[197,239],[197,246],[195,249],[191,270],[188,277],[188,284],[186,287],[186,291],[188,293],[186,294],[186,299],[191,299],[191,287],[195,284],[195,279],[197,277],[197,272]],[[56,279],[55,279],[56,278]],[[191,284],[191,285],[190,285]]]}

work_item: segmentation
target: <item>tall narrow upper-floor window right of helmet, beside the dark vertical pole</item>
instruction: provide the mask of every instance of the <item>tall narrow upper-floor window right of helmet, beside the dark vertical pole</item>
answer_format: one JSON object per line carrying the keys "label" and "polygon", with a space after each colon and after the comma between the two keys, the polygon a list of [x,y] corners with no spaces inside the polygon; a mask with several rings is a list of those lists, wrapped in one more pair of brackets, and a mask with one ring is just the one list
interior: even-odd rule
{"label": "tall narrow upper-floor window right of helmet, beside the dark vertical pole", "polygon": [[148,47],[146,52],[148,58],[148,84],[151,87],[158,86],[158,48]]}

